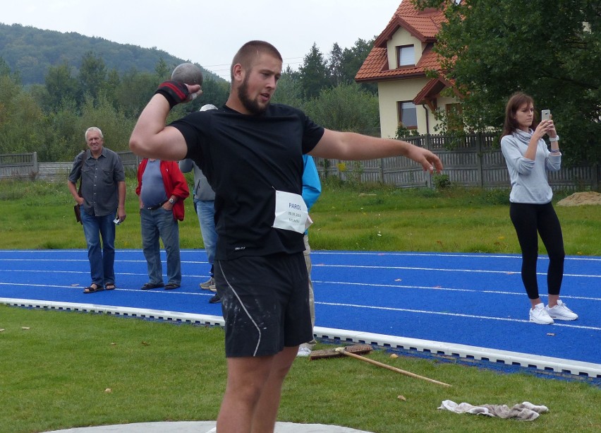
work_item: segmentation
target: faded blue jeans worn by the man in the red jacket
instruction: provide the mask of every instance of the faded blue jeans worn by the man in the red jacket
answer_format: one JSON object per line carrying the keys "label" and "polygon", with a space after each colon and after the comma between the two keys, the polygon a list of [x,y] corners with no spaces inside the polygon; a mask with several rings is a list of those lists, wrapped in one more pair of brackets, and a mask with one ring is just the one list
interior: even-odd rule
{"label": "faded blue jeans worn by the man in the red jacket", "polygon": [[140,210],[142,227],[142,252],[146,258],[149,283],[163,283],[163,268],[159,237],[167,255],[167,284],[181,284],[181,260],[179,256],[179,227],[171,210],[158,208]]}

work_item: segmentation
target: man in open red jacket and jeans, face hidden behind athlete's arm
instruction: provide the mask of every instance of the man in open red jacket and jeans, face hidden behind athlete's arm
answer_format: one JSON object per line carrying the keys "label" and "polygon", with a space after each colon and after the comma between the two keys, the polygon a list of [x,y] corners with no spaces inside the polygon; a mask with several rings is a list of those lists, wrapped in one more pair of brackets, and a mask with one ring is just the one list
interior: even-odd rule
{"label": "man in open red jacket and jeans, face hidden behind athlete's arm", "polygon": [[[148,266],[149,281],[142,290],[165,287],[173,290],[181,285],[178,220],[183,221],[183,201],[190,191],[177,162],[145,158],[138,166],[140,225],[142,251]],[[167,284],[163,284],[163,269],[159,244],[161,237],[167,254]]]}

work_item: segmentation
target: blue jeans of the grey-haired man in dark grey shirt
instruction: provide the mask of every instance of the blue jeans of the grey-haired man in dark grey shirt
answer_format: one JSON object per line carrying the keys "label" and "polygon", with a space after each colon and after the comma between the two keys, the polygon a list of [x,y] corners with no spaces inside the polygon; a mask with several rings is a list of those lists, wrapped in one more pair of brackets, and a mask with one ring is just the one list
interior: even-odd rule
{"label": "blue jeans of the grey-haired man in dark grey shirt", "polygon": [[[116,210],[109,215],[90,215],[83,206],[81,223],[87,242],[87,259],[90,261],[92,283],[104,287],[115,283],[115,219]],[[102,237],[102,247],[100,238]]]}

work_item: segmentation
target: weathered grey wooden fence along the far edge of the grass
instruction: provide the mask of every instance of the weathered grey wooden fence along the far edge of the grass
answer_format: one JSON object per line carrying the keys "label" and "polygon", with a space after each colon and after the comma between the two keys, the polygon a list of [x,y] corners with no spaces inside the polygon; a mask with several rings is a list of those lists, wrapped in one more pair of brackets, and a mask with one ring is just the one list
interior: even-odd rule
{"label": "weathered grey wooden fence along the far edge of the grass", "polygon": [[[436,153],[444,165],[444,174],[454,185],[479,186],[480,188],[508,188],[509,173],[498,146],[498,136],[473,134],[461,138],[425,135],[405,138],[416,146]],[[131,152],[118,152],[126,170],[136,170],[140,157]],[[430,174],[407,158],[382,158],[368,161],[341,161],[315,158],[322,179],[336,176],[353,182],[393,184],[399,188],[432,188]],[[20,153],[0,155],[0,179],[66,180],[73,162],[37,162],[37,154]],[[582,165],[562,168],[549,173],[549,183],[554,189],[599,190],[601,167]]]}

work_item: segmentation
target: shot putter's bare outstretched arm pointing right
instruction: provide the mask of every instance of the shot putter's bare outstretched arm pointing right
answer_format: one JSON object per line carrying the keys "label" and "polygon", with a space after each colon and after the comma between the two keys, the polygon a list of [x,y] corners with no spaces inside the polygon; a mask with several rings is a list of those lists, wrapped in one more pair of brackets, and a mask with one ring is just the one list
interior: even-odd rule
{"label": "shot putter's bare outstretched arm pointing right", "polygon": [[430,150],[413,146],[406,141],[377,138],[326,129],[309,155],[338,160],[372,160],[404,156],[420,164],[424,171],[442,172],[442,162]]}

